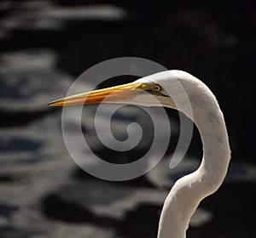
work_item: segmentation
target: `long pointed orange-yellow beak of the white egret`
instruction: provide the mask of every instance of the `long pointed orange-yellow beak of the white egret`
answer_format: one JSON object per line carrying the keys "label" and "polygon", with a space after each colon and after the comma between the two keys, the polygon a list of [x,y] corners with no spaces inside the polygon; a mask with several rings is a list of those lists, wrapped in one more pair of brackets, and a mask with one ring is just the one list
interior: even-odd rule
{"label": "long pointed orange-yellow beak of the white egret", "polygon": [[152,84],[143,82],[131,82],[111,88],[104,88],[94,90],[88,93],[76,94],[63,99],[57,99],[50,102],[51,106],[63,106],[63,105],[89,105],[98,104],[101,102],[106,103],[118,103],[141,94],[147,90],[152,89]]}

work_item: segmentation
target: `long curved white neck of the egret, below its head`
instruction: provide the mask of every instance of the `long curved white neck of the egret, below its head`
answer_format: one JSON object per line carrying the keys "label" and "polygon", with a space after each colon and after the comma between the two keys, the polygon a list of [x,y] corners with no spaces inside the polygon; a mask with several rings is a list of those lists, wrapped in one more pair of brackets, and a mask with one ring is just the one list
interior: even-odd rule
{"label": "long curved white neck of the egret, below its head", "polygon": [[[161,212],[158,238],[184,238],[189,219],[200,201],[222,184],[230,161],[230,145],[224,116],[212,92],[202,84],[204,92],[190,97],[193,121],[201,134],[203,158],[201,166],[177,180]],[[184,111],[186,114],[186,112]]]}

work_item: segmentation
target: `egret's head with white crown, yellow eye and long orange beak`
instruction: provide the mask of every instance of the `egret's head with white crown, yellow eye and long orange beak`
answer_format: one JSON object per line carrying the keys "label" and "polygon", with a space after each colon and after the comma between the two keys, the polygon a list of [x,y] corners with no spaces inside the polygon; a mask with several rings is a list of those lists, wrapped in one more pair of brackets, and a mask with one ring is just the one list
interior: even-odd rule
{"label": "egret's head with white crown, yellow eye and long orange beak", "polygon": [[[185,72],[163,71],[148,77],[142,77],[135,82],[57,99],[50,102],[49,105],[118,103],[143,106],[163,105],[177,109],[177,104],[183,103],[186,94],[183,83],[181,83],[183,77],[179,77],[183,73]],[[186,77],[190,76],[188,73],[185,74]]]}

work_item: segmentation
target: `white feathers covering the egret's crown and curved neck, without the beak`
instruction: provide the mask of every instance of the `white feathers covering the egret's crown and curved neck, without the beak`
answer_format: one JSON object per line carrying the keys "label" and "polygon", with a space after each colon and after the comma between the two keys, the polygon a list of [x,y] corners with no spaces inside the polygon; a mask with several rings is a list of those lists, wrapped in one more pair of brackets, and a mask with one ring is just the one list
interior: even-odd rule
{"label": "white feathers covering the egret's crown and curved neck, without the beak", "polygon": [[[194,173],[177,180],[166,197],[160,216],[158,238],[183,238],[186,237],[189,219],[196,207],[207,195],[218,190],[227,173],[230,144],[224,116],[211,90],[187,72],[165,71],[143,77],[137,82],[158,83],[165,94],[172,96],[161,97],[159,100],[162,105],[178,109],[189,116],[201,134],[201,166]],[[192,114],[188,106],[183,105],[186,104],[186,97],[189,98]],[[150,105],[150,101],[143,105]]]}

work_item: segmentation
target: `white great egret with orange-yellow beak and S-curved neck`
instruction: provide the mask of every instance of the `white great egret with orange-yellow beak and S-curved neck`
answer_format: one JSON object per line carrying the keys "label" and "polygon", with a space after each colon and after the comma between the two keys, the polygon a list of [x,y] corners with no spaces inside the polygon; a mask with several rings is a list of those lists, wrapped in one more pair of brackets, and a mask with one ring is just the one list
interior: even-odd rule
{"label": "white great egret with orange-yellow beak and S-curved neck", "polygon": [[[180,90],[180,85],[184,90]],[[163,106],[183,111],[195,122],[201,134],[203,158],[200,167],[177,180],[166,197],[160,215],[157,237],[182,238],[186,236],[189,219],[201,200],[222,184],[230,162],[230,144],[223,113],[215,96],[203,82],[184,71],[163,71],[121,86],[58,99],[49,105],[101,102],[159,105],[150,100],[148,94],[154,94]],[[189,113],[186,98],[193,116]]]}

